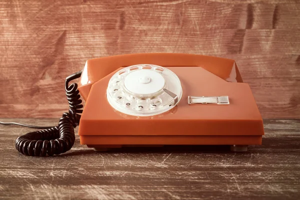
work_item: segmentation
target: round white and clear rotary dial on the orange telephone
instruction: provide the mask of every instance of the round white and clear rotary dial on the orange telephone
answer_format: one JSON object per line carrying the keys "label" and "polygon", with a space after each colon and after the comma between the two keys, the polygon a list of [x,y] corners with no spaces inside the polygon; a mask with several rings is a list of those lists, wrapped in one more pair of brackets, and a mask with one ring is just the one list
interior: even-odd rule
{"label": "round white and clear rotary dial on the orange telephone", "polygon": [[106,97],[109,104],[122,113],[151,116],[176,106],[182,97],[182,88],[171,70],[154,64],[136,64],[112,75]]}

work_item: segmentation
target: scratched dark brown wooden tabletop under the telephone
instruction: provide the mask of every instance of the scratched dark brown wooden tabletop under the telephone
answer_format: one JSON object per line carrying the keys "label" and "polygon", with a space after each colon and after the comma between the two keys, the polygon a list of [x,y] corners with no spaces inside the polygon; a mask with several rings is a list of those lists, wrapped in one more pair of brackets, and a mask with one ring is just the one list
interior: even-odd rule
{"label": "scratched dark brown wooden tabletop under the telephone", "polygon": [[[55,125],[57,119],[9,119]],[[29,157],[14,148],[30,128],[0,125],[1,199],[299,199],[300,119],[266,119],[261,146],[121,148],[79,144],[59,156]]]}

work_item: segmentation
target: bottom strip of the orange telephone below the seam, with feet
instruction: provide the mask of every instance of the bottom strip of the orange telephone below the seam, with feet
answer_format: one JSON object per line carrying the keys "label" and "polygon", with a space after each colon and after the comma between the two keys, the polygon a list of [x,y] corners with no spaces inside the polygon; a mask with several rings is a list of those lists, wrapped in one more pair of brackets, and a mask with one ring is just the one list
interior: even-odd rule
{"label": "bottom strip of the orange telephone below the seam, with feet", "polygon": [[230,145],[231,151],[244,152],[248,145],[261,144],[261,138],[261,135],[80,135],[80,142],[95,151],[164,145]]}

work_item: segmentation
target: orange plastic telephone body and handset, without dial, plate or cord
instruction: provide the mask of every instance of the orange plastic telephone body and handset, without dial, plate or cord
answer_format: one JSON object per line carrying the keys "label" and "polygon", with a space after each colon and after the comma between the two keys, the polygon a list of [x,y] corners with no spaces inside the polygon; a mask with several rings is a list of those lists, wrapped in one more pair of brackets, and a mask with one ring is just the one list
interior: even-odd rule
{"label": "orange plastic telephone body and handset, without dial, plate or cord", "polygon": [[[110,77],[133,64],[156,64],[180,79],[183,95],[172,110],[138,117],[114,110],[106,99]],[[247,83],[231,59],[139,53],[87,60],[78,87],[86,100],[80,143],[89,147],[163,144],[261,144],[262,118]],[[187,96],[228,95],[230,104],[189,105]]]}

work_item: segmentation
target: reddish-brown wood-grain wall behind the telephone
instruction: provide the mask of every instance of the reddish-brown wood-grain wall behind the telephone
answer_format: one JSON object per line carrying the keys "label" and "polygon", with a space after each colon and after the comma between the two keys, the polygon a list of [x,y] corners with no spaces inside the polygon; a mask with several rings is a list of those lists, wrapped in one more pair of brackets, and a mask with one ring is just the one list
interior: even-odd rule
{"label": "reddish-brown wood-grain wall behind the telephone", "polygon": [[300,116],[297,0],[1,0],[0,117],[58,117],[86,59],[183,52],[235,59],[264,118]]}

